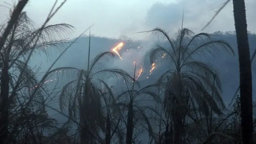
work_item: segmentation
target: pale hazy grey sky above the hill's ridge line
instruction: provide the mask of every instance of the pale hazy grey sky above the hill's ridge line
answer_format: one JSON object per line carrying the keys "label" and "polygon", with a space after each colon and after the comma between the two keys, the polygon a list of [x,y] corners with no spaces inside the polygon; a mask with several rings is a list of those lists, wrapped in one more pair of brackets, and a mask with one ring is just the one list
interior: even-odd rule
{"label": "pale hazy grey sky above the hill's ridge line", "polygon": [[[0,20],[8,14],[7,3],[18,0],[0,0]],[[25,10],[38,24],[44,22],[55,0],[30,0]],[[63,0],[59,0],[59,4]],[[185,6],[184,27],[195,32],[210,20],[225,0],[68,0],[49,24],[67,23],[76,28],[78,36],[94,24],[92,33],[97,36],[143,38],[134,32],[164,28],[174,33],[181,27],[182,11]],[[256,0],[246,0],[248,30],[256,32]],[[205,32],[234,30],[232,2],[220,13]]]}

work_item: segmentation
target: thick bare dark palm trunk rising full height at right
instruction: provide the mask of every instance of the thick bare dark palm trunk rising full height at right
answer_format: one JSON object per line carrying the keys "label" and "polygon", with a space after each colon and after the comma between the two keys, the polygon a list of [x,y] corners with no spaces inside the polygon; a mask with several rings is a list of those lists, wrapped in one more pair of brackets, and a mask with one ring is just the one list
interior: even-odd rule
{"label": "thick bare dark palm trunk rising full height at right", "polygon": [[244,0],[233,0],[240,68],[241,126],[243,144],[252,144],[252,69]]}

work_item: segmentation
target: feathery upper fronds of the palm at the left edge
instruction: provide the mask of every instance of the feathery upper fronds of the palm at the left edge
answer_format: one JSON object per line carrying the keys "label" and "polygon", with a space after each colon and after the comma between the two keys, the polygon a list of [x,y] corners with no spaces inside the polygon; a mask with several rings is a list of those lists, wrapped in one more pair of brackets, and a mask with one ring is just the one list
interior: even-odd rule
{"label": "feathery upper fronds of the palm at the left edge", "polygon": [[6,47],[11,48],[11,57],[15,59],[21,56],[27,58],[31,50],[42,51],[48,56],[52,48],[60,49],[66,45],[67,40],[58,40],[57,37],[67,36],[73,28],[69,24],[54,24],[43,28],[34,28],[33,21],[28,18],[26,12],[22,12],[12,28],[12,35],[8,37]]}

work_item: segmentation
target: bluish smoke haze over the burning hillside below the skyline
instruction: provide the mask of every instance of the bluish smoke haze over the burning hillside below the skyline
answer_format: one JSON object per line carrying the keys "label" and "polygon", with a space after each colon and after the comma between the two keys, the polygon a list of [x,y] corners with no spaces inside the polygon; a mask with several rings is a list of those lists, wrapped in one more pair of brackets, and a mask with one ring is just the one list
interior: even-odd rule
{"label": "bluish smoke haze over the burning hillside below the skyline", "polygon": [[[213,38],[227,41],[232,46],[232,48],[234,48],[234,51],[237,52],[236,36],[233,32],[215,32],[214,34],[218,34],[219,36],[214,36]],[[122,60],[118,56],[116,56],[114,59],[110,59],[109,61],[102,61],[104,68],[120,68],[133,76],[135,67],[133,62],[137,61],[135,78],[138,77],[139,70],[140,68],[142,68],[142,73],[138,78],[138,82],[140,82],[140,85],[146,86],[148,84],[153,84],[164,72],[166,72],[173,65],[170,63],[166,63],[165,60],[161,62],[156,62],[156,67],[150,75],[150,70],[152,69],[152,65],[149,61],[150,50],[154,47],[156,43],[162,43],[163,46],[168,46],[168,43],[165,43],[162,40],[159,41],[159,39],[161,38],[158,38],[158,36],[150,34],[148,35],[149,37],[151,37],[150,40],[131,40],[129,38],[112,39],[92,36],[90,45],[90,59],[92,60],[96,55],[99,54],[99,52],[111,51],[112,48],[117,46],[120,42],[123,42],[124,46],[118,51],[120,56],[122,57]],[[255,50],[253,46],[256,46],[255,38],[255,34],[249,35],[249,43],[252,47],[252,52]],[[86,70],[88,59],[88,41],[88,36],[83,36],[79,38],[78,41],[73,44],[60,58],[60,60],[58,60],[54,67],[57,68],[62,66],[72,66],[75,68]],[[41,64],[41,72],[44,72],[50,66],[52,61],[55,60],[59,53],[60,52],[56,51],[51,58],[52,60],[48,62],[44,61],[46,60],[45,56],[36,56],[36,58],[38,59],[44,59],[42,60]],[[228,105],[232,97],[234,96],[234,92],[236,91],[236,88],[239,84],[238,55],[235,54],[235,56],[232,56],[231,54],[227,54],[223,51],[220,56],[216,56],[215,58],[209,57],[207,59],[202,59],[201,57],[198,57],[197,59],[208,62],[218,69],[222,80],[222,98],[224,102]],[[31,60],[31,66],[34,66],[38,63],[38,60]],[[104,68],[98,66],[95,70],[102,70]],[[254,76],[256,69],[252,67],[252,71]],[[61,88],[70,80],[74,80],[74,78],[76,78],[76,76],[74,76],[72,72],[67,72],[66,74],[64,74],[64,76],[50,78],[49,80],[53,81],[49,81],[48,83],[50,83],[50,87],[53,87],[56,84],[57,88]],[[114,86],[116,90],[126,90],[126,85],[124,84],[124,82],[118,82],[111,76],[103,77],[103,79],[109,86]],[[59,109],[58,97],[55,96],[54,102],[50,102],[50,104],[52,105],[52,107]],[[142,103],[142,105],[143,104],[145,103]],[[149,103],[146,104],[148,105]],[[54,118],[57,118],[60,122],[66,121],[66,118],[64,116],[61,116],[61,114],[58,114],[53,110],[49,110],[49,114],[54,116]]]}

